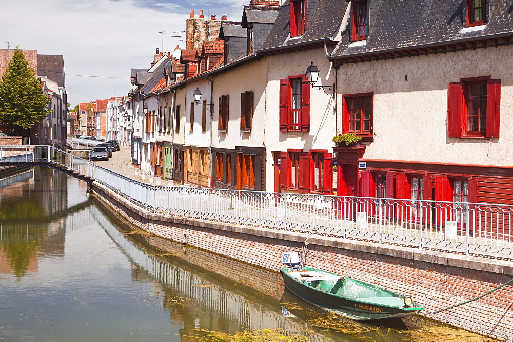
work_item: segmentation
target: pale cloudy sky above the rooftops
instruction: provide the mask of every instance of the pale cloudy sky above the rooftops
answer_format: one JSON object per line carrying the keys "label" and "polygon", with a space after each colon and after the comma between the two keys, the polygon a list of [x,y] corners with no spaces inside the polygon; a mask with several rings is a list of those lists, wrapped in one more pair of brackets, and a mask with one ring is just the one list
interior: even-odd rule
{"label": "pale cloudy sky above the rooftops", "polygon": [[[180,44],[190,11],[240,21],[249,0],[14,0],[2,4],[0,49],[63,55],[68,102],[126,95],[130,69],[149,68],[155,49]],[[210,5],[210,9],[209,9]],[[185,33],[182,35],[185,49]],[[82,76],[76,76],[82,75]],[[88,77],[103,76],[103,77]]]}

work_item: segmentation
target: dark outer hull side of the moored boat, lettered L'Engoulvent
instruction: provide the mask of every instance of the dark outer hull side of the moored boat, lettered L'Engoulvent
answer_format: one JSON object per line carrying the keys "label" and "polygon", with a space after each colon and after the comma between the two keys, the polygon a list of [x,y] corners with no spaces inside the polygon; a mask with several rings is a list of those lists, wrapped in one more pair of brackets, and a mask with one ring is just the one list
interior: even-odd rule
{"label": "dark outer hull side of the moored boat, lettered L'Engoulvent", "polygon": [[377,305],[375,303],[366,303],[359,300],[351,300],[341,296],[333,295],[318,289],[304,285],[287,274],[281,269],[285,286],[303,301],[315,305],[326,311],[341,315],[354,320],[374,320],[408,317],[422,310],[401,309],[397,307],[388,307]]}

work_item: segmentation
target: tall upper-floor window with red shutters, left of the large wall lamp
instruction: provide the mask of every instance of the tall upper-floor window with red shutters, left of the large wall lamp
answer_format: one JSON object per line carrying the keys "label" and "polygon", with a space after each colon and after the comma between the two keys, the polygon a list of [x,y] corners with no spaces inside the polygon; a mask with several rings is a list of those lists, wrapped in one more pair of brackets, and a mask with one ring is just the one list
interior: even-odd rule
{"label": "tall upper-floor window with red shutters, left of the large wall lamp", "polygon": [[280,131],[310,131],[310,83],[305,75],[280,80]]}

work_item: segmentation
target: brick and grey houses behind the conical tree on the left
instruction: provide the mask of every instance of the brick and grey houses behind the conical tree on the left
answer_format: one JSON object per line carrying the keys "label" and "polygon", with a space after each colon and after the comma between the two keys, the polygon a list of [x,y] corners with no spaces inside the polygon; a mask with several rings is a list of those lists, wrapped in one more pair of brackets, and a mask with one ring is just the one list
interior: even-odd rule
{"label": "brick and grey houses behind the conical tree on the left", "polygon": [[[15,49],[0,49],[0,77],[4,74],[12,59]],[[0,132],[9,136],[30,138],[27,144],[53,145],[63,148],[66,145],[66,127],[72,120],[68,116],[67,90],[62,55],[38,54],[37,50],[21,50],[25,54],[28,65],[35,76],[41,81],[42,92],[48,96],[48,109],[52,110],[41,123],[32,129],[22,129],[16,125],[0,122]]]}

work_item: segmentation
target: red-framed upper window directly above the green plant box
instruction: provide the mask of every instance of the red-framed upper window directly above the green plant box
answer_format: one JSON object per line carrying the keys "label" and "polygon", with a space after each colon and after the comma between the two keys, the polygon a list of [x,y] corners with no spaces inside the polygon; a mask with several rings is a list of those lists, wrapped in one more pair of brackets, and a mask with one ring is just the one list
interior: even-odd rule
{"label": "red-framed upper window directly above the green plant box", "polygon": [[363,137],[372,137],[373,94],[344,95],[342,102],[343,130]]}

